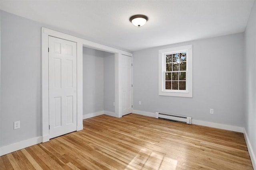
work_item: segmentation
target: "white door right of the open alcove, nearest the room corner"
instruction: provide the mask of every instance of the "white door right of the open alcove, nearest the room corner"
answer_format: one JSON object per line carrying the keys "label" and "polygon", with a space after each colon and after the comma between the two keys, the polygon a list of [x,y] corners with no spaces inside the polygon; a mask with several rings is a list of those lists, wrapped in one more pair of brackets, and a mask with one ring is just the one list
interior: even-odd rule
{"label": "white door right of the open alcove, nearest the room corner", "polygon": [[132,113],[132,57],[122,55],[122,115]]}

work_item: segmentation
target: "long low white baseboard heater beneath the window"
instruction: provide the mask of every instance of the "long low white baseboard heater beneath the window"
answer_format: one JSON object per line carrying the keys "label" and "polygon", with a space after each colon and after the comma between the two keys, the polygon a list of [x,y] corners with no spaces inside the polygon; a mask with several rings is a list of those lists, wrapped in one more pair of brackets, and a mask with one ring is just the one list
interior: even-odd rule
{"label": "long low white baseboard heater beneath the window", "polygon": [[188,116],[156,112],[156,118],[168,119],[172,121],[179,121],[179,122],[191,124],[191,117],[188,117]]}

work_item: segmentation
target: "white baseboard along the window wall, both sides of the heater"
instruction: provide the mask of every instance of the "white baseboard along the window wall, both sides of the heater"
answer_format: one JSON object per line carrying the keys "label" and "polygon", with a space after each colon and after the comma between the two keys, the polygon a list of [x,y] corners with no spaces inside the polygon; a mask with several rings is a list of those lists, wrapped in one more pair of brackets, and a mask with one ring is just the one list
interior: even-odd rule
{"label": "white baseboard along the window wall, both sides of the heater", "polygon": [[[155,115],[156,115],[156,113],[140,111],[140,110],[133,110],[133,113],[139,114],[139,115],[150,116],[150,117],[155,117]],[[213,123],[213,122],[208,122],[208,121],[195,120],[193,118],[192,118],[192,124],[202,125],[202,126],[207,126],[207,127],[214,127],[214,128],[218,128],[218,129],[224,129],[224,130],[241,132],[241,133],[244,132],[243,127],[225,125],[225,124],[220,124],[220,123]]]}

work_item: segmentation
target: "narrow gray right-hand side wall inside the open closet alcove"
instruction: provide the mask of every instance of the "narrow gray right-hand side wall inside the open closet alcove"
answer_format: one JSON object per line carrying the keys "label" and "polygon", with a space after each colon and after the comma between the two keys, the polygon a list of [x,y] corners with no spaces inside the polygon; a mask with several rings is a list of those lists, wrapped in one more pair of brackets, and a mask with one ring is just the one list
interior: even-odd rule
{"label": "narrow gray right-hand side wall inside the open closet alcove", "polygon": [[115,56],[104,52],[104,111],[115,112]]}

